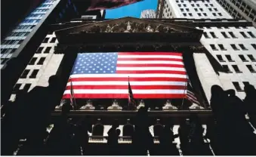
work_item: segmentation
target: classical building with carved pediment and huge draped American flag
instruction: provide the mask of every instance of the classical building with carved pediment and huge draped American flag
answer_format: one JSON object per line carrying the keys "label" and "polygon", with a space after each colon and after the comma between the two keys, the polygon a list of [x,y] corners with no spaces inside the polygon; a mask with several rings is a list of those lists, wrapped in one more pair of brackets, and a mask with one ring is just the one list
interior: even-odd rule
{"label": "classical building with carved pediment and huge draped American flag", "polygon": [[[197,115],[206,130],[205,124],[212,118],[211,86],[221,85],[217,73],[226,69],[200,42],[203,30],[198,27],[203,26],[250,23],[123,17],[52,24],[51,33],[34,55],[46,59],[29,90],[47,87],[52,75],[57,78],[51,98],[56,103],[52,124],[62,115],[65,104],[72,105],[67,114],[73,124],[85,117],[90,119],[89,145],[99,148],[91,155],[106,153],[108,131],[116,121],[120,129],[116,149],[122,150],[120,155],[132,152],[129,146],[140,107],[148,109],[150,133],[156,145],[161,129],[170,121],[174,134],[178,134],[180,122],[189,122],[191,115]],[[48,42],[52,38],[56,41]],[[51,48],[48,54],[40,53],[47,48]],[[32,71],[33,66],[27,69]],[[53,129],[50,125],[48,132],[51,134]],[[177,151],[172,155],[182,153],[180,138],[175,138],[173,145]],[[201,153],[212,155],[208,140],[206,147]]]}

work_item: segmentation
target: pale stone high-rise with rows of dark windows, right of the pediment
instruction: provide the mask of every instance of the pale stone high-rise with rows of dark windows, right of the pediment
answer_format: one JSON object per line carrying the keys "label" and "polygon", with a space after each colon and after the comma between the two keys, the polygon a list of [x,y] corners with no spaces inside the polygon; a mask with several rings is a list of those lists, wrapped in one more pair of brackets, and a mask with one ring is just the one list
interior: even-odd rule
{"label": "pale stone high-rise with rows of dark windows, right of the pediment", "polygon": [[212,85],[221,85],[225,90],[234,89],[241,99],[245,98],[243,87],[246,84],[256,86],[256,29],[251,23],[245,25],[245,20],[233,20],[216,0],[166,0],[160,1],[158,8],[159,18],[205,21],[202,25],[196,26],[197,29],[204,31],[200,42],[227,71],[218,74],[210,72],[214,65],[204,65],[208,60],[204,54],[195,54],[196,69],[208,101]]}

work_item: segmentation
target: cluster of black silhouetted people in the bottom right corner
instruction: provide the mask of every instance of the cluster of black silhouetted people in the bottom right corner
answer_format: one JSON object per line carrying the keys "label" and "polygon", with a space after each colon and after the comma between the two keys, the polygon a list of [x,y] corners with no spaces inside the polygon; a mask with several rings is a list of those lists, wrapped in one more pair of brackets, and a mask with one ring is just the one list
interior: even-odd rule
{"label": "cluster of black silhouetted people in the bottom right corner", "polygon": [[[214,118],[208,122],[211,146],[221,155],[255,155],[256,90],[245,85],[244,100],[234,90],[224,91],[220,86],[211,87],[211,109]],[[245,118],[248,115],[249,122]]]}

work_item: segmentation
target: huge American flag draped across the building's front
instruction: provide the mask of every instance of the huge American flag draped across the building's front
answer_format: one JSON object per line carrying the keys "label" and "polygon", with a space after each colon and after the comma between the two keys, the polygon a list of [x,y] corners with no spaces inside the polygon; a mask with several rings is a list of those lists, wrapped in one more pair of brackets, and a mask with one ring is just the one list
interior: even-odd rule
{"label": "huge American flag draped across the building's front", "polygon": [[109,52],[78,54],[63,98],[186,98],[187,72],[181,53]]}

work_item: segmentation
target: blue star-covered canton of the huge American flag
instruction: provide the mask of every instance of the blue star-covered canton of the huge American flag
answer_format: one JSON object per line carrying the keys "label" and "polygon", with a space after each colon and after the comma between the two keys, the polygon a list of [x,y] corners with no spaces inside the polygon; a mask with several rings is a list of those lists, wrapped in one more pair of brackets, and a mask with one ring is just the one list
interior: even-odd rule
{"label": "blue star-covered canton of the huge American flag", "polygon": [[72,74],[116,73],[117,53],[78,54]]}

